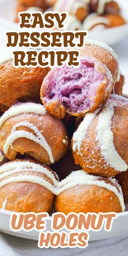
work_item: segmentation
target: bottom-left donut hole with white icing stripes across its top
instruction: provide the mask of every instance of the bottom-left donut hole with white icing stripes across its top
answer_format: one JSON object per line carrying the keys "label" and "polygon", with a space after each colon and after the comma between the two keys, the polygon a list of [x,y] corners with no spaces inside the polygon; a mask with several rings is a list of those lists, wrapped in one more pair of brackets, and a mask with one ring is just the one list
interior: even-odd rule
{"label": "bottom-left donut hole with white icing stripes across its top", "polygon": [[24,159],[2,165],[0,174],[0,208],[52,213],[57,176],[51,168]]}

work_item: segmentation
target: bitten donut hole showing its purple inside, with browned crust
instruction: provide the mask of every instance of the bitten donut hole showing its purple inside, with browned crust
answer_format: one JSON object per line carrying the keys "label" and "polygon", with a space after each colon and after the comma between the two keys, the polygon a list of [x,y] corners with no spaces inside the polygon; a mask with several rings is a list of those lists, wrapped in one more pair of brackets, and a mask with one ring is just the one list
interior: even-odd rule
{"label": "bitten donut hole showing its purple inside, with browned crust", "polygon": [[80,66],[54,68],[44,78],[41,100],[50,114],[64,118],[85,116],[105,104],[112,91],[112,75],[108,68],[94,57],[81,57]]}

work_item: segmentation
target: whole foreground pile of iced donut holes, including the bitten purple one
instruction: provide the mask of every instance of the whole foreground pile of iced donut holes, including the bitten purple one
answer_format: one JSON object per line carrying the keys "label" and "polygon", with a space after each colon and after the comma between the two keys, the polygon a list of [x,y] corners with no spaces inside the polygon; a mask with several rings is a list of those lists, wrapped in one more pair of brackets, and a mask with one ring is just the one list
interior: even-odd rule
{"label": "whole foreground pile of iced donut holes, including the bitten purple one", "polygon": [[0,62],[0,208],[124,212],[128,99],[118,57],[86,40],[80,66]]}

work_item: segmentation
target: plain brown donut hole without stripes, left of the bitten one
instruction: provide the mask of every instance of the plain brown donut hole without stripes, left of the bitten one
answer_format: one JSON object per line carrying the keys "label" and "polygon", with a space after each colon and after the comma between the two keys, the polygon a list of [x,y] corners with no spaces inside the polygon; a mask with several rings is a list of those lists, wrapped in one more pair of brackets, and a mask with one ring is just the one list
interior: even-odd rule
{"label": "plain brown donut hole without stripes, left of the bitten one", "polygon": [[14,68],[12,60],[0,66],[0,104],[11,106],[19,98],[39,99],[40,88],[50,68]]}

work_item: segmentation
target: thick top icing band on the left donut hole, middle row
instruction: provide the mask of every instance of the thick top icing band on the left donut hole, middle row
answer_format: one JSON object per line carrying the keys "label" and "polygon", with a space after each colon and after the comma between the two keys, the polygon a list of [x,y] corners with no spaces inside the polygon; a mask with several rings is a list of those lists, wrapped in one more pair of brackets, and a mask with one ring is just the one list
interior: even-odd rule
{"label": "thick top icing band on the left donut hole, middle row", "polygon": [[35,114],[46,114],[46,108],[41,104],[36,103],[23,103],[20,105],[14,105],[5,111],[3,116],[0,118],[0,127],[3,123],[8,120],[10,117],[18,116],[18,114],[23,113],[35,113]]}

